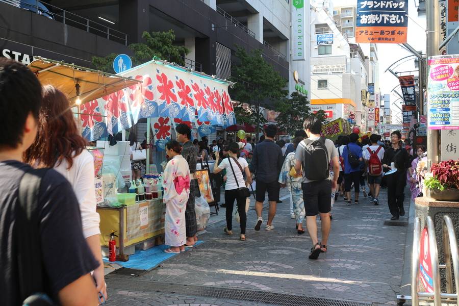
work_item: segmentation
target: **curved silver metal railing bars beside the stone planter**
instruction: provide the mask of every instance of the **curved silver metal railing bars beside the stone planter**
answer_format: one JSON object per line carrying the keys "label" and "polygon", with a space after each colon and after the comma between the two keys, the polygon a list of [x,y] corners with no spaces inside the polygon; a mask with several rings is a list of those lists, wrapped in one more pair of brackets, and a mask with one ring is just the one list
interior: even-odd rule
{"label": "curved silver metal railing bars beside the stone planter", "polygon": [[[442,301],[456,301],[459,305],[459,254],[457,250],[457,240],[454,231],[454,225],[448,215],[443,216],[442,222],[442,235],[443,235],[443,251],[445,264],[439,264],[437,237],[435,234],[435,225],[433,224],[432,217],[427,216],[425,219],[428,235],[428,252],[430,253],[430,264],[432,266],[432,287],[433,292],[419,292],[419,276],[420,276],[420,237],[421,234],[421,220],[419,217],[415,219],[414,224],[414,239],[413,239],[413,253],[412,253],[412,266],[411,266],[411,296],[398,295],[397,299],[404,302],[406,299],[411,299],[413,306],[419,305],[419,300],[432,300],[434,306],[441,306]],[[425,250],[424,250],[425,252]],[[451,271],[451,258],[452,267],[454,271],[455,291],[453,293],[452,287],[452,271]],[[441,292],[440,284],[440,269],[446,270],[446,293]]]}

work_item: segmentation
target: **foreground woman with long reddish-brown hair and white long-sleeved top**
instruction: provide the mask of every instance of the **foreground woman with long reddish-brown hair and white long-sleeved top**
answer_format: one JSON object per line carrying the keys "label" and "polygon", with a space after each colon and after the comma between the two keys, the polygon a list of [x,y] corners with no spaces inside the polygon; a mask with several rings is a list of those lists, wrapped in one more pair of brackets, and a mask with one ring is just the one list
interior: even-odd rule
{"label": "foreground woman with long reddish-brown hair and white long-sleeved top", "polygon": [[100,263],[93,272],[97,291],[107,298],[104,262],[100,252],[100,218],[96,212],[94,160],[86,145],[87,141],[77,129],[65,94],[53,86],[45,86],[37,138],[25,152],[24,162],[38,168],[55,168],[72,185],[80,204],[83,235]]}

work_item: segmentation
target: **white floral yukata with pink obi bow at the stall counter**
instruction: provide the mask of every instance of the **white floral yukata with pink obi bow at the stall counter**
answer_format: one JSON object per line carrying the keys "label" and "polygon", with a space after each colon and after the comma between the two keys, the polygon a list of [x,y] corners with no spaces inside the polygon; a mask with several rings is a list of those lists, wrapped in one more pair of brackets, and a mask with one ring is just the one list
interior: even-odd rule
{"label": "white floral yukata with pink obi bow at the stall counter", "polygon": [[185,209],[190,195],[190,169],[181,156],[174,156],[166,165],[163,174],[165,244],[182,246],[186,243]]}

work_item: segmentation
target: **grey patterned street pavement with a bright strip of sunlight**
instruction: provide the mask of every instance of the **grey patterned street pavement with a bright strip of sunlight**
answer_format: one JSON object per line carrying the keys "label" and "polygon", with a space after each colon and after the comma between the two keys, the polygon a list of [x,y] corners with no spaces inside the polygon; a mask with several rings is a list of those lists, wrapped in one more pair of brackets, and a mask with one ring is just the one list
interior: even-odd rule
{"label": "grey patterned street pavement with a bright strip of sunlight", "polygon": [[[379,206],[369,203],[361,194],[360,203],[348,207],[340,197],[332,209],[328,251],[315,261],[308,259],[312,246],[308,234],[296,233],[286,189],[281,191],[281,198],[284,202],[277,205],[273,231],[264,230],[266,221],[259,232],[253,230],[257,217],[252,198],[246,241],[238,239],[236,221],[233,236],[223,233],[224,209],[220,209],[218,216],[211,217],[207,232],[199,235],[204,243],[139,275],[108,274],[107,305],[257,305],[256,302],[176,294],[174,284],[250,289],[375,305],[396,304],[405,239],[411,233],[407,233],[407,226],[384,224],[385,221],[394,224],[389,220],[387,189],[381,189]],[[409,194],[405,198],[405,211],[409,212]],[[406,224],[407,217],[399,221]],[[267,208],[263,218],[267,220]],[[318,225],[320,237],[319,220]],[[156,290],[155,284],[159,283],[171,284],[170,292]]]}

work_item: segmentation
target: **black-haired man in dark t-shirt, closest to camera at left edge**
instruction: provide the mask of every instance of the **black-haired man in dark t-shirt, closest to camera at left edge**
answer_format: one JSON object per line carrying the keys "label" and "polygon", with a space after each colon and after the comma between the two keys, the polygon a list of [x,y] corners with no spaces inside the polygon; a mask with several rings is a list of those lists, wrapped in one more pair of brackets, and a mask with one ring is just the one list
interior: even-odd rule
{"label": "black-haired man in dark t-shirt, closest to camera at left edge", "polygon": [[[41,85],[35,74],[20,63],[0,58],[0,121],[4,122],[4,133],[0,136],[2,305],[21,305],[30,295],[44,293],[56,304],[95,306],[97,292],[89,272],[99,264],[83,237],[80,208],[72,187],[55,170],[47,170],[41,177],[36,207],[30,218],[36,221],[30,226],[32,230],[36,227],[39,250],[29,256],[38,265],[37,269],[42,270],[42,277],[31,275],[32,271],[24,268],[29,264],[25,262],[27,258],[19,256],[24,238],[20,233],[25,226],[20,217],[18,186],[24,173],[31,169],[20,161],[37,135],[40,105]],[[21,286],[27,285],[25,282],[32,284],[30,288]]]}

